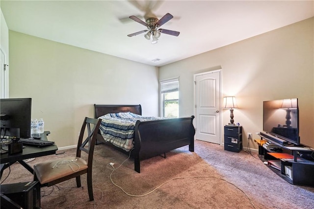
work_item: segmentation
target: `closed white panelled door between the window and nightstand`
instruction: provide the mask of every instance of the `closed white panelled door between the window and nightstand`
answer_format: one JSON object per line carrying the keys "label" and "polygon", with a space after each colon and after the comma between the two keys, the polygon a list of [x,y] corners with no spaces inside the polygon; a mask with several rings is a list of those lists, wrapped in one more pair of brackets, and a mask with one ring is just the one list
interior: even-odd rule
{"label": "closed white panelled door between the window and nightstand", "polygon": [[220,144],[220,70],[194,75],[196,139]]}

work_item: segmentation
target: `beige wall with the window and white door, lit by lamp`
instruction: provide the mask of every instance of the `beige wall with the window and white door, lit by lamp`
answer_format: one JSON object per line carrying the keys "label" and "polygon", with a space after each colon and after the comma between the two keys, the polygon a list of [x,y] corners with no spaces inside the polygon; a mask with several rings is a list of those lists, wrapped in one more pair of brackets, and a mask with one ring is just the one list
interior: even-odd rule
{"label": "beige wall with the window and white door, lit by lamp", "polygon": [[[235,122],[259,138],[262,101],[298,98],[301,143],[314,147],[314,18],[162,66],[159,78],[180,77],[180,116],[193,114],[193,75],[219,69],[222,95],[236,96]],[[230,112],[222,111],[228,124]],[[223,137],[222,137],[223,142]],[[254,142],[250,147],[257,149]]]}

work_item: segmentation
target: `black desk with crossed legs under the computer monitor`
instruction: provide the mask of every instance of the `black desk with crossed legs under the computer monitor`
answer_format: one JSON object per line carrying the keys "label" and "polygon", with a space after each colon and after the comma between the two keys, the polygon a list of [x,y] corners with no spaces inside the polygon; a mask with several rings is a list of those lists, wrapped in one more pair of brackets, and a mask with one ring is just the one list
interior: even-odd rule
{"label": "black desk with crossed legs under the computer monitor", "polygon": [[[50,134],[50,131],[45,131],[41,133],[40,136],[42,137],[41,140],[48,140],[47,135]],[[47,147],[33,147],[33,146],[25,146],[23,148],[23,153],[18,153],[14,155],[9,155],[8,153],[1,154],[1,176],[7,167],[14,164],[15,162],[19,162],[23,165],[30,173],[34,173],[34,169],[24,161],[24,159],[32,158],[32,157],[42,157],[53,155],[58,150],[56,145],[50,145]]]}

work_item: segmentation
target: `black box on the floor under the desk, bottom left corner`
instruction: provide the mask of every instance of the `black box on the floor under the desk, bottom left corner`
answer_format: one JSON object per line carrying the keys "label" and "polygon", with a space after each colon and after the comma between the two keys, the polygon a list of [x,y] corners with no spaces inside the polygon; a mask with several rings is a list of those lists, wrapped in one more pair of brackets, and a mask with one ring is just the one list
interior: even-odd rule
{"label": "black box on the floor under the desk, bottom left corner", "polygon": [[1,184],[1,209],[40,208],[40,184],[39,182],[23,182]]}

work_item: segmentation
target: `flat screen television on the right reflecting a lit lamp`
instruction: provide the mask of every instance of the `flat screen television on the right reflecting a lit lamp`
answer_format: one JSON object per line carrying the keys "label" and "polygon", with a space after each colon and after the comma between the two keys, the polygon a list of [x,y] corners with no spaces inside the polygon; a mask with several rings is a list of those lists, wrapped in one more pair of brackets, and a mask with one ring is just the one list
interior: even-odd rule
{"label": "flat screen television on the right reflecting a lit lamp", "polygon": [[298,99],[264,101],[261,134],[280,144],[300,145]]}

